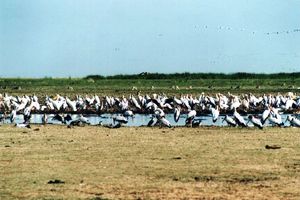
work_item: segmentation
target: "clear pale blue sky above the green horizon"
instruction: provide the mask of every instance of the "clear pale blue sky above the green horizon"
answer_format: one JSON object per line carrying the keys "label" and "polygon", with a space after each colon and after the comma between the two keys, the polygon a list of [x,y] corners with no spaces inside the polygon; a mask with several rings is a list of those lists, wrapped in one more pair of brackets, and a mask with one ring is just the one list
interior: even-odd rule
{"label": "clear pale blue sky above the green horizon", "polygon": [[0,1],[0,77],[294,71],[299,0]]}

